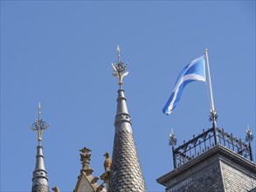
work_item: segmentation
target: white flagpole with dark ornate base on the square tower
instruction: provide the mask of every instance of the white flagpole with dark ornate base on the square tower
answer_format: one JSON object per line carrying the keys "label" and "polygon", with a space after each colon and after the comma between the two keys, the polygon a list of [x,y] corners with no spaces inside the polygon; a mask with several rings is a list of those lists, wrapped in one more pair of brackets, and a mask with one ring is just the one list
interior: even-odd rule
{"label": "white flagpole with dark ornate base on the square tower", "polygon": [[[206,65],[207,65],[207,71],[208,71],[208,80],[209,80],[209,90],[210,90],[210,98],[211,98],[211,111],[210,111],[210,120],[212,121],[212,126],[215,129],[215,134],[217,134],[216,132],[216,127],[217,127],[217,118],[218,115],[215,111],[214,108],[214,102],[213,102],[213,95],[212,95],[212,88],[211,88],[211,72],[210,72],[210,65],[209,65],[209,59],[208,59],[208,50],[205,49],[204,50],[204,56],[205,56],[205,60],[206,60]],[[217,136],[217,135],[216,135]],[[217,141],[217,137],[216,137],[216,141]]]}

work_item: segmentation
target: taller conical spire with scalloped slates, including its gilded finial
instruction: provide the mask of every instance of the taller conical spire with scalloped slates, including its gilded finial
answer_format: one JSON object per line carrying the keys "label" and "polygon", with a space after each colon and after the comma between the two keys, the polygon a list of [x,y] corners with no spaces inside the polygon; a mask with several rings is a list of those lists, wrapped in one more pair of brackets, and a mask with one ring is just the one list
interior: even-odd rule
{"label": "taller conical spire with scalloped slates, including its gilded finial", "polygon": [[119,51],[118,47],[118,62],[115,65],[113,64],[113,75],[119,79],[120,89],[118,90],[117,110],[114,120],[115,134],[109,192],[146,191],[126,98],[124,90],[121,89],[122,78],[128,72],[125,72],[126,65],[119,61]]}

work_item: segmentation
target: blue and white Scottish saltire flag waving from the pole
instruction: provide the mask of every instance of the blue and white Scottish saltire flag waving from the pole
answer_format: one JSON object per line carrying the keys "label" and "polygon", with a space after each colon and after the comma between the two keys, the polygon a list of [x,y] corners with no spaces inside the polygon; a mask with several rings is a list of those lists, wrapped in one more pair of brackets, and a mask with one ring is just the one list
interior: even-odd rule
{"label": "blue and white Scottish saltire flag waving from the pole", "polygon": [[166,105],[163,107],[163,113],[172,113],[182,96],[183,88],[190,82],[196,80],[206,82],[204,56],[196,58],[189,65],[186,65],[185,68],[183,68],[183,71],[180,72],[176,79],[174,91],[171,93],[170,99],[168,99]]}

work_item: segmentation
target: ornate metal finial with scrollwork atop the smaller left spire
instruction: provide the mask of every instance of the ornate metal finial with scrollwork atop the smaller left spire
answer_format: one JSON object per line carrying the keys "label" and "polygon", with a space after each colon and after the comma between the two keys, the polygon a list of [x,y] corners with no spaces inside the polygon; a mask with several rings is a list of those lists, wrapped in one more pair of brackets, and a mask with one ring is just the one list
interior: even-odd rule
{"label": "ornate metal finial with scrollwork atop the smaller left spire", "polygon": [[41,115],[41,105],[40,103],[38,103],[38,119],[30,127],[32,131],[38,132],[38,145],[40,145],[40,142],[42,141],[43,132],[49,127],[48,123],[40,119],[40,115]]}

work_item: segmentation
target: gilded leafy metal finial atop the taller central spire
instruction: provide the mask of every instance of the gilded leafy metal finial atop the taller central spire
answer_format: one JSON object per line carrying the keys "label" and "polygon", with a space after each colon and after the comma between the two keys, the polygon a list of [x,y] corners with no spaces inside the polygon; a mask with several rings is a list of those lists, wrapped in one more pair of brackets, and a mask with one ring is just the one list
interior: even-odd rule
{"label": "gilded leafy metal finial atop the taller central spire", "polygon": [[119,45],[117,45],[117,63],[112,63],[112,67],[114,69],[114,72],[112,73],[112,75],[114,77],[117,77],[118,81],[118,85],[120,86],[121,89],[121,85],[122,85],[122,79],[123,77],[128,75],[128,72],[126,72],[126,67],[128,65],[128,63],[124,64],[121,62],[120,60],[121,56],[120,56],[120,47]]}

